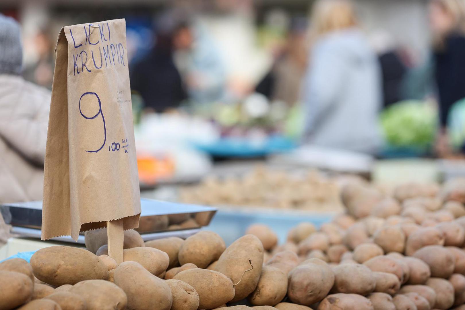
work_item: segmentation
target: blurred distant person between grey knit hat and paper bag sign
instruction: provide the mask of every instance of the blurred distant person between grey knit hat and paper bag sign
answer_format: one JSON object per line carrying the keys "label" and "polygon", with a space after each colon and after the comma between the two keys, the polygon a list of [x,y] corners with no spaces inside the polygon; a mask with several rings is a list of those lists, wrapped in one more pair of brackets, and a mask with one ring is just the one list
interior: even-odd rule
{"label": "blurred distant person between grey knit hat and paper bag sign", "polygon": [[37,60],[26,66],[23,71],[23,77],[35,84],[52,89],[53,82],[53,43],[49,37],[49,31],[44,28],[34,37],[33,45],[37,53]]}

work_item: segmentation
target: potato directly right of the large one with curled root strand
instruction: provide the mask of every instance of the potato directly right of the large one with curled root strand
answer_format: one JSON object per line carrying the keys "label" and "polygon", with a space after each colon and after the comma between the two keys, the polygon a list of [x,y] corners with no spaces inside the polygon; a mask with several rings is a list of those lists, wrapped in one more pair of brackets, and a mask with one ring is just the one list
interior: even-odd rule
{"label": "potato directly right of the large one with curled root strand", "polygon": [[274,306],[283,300],[286,293],[287,274],[276,267],[264,266],[259,283],[249,296],[249,302],[254,306]]}

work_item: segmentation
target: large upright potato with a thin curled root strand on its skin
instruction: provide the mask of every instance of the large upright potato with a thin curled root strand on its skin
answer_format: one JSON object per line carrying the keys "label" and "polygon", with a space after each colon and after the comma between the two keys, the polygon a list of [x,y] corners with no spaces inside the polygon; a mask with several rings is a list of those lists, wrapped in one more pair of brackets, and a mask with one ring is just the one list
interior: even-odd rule
{"label": "large upright potato with a thin curled root strand on its skin", "polygon": [[231,302],[246,298],[255,290],[263,265],[263,245],[259,238],[245,235],[221,254],[215,270],[229,277],[236,294]]}

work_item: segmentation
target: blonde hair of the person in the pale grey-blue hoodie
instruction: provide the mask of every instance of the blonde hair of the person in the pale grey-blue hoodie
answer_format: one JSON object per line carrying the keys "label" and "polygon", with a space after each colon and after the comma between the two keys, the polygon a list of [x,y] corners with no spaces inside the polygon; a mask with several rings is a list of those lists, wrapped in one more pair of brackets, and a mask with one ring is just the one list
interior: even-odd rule
{"label": "blonde hair of the person in the pale grey-blue hoodie", "polygon": [[355,9],[350,0],[317,0],[312,7],[310,22],[312,40],[326,33],[358,24]]}

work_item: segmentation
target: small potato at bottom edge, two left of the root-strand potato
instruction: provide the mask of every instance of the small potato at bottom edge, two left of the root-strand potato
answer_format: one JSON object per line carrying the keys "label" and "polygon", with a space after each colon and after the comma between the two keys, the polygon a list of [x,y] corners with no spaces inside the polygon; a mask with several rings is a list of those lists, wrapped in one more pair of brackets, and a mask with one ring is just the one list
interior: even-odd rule
{"label": "small potato at bottom edge, two left of the root-strand potato", "polygon": [[196,310],[199,307],[199,294],[191,285],[180,280],[166,280],[165,283],[173,295],[171,310]]}

